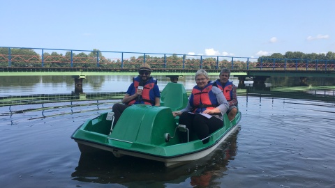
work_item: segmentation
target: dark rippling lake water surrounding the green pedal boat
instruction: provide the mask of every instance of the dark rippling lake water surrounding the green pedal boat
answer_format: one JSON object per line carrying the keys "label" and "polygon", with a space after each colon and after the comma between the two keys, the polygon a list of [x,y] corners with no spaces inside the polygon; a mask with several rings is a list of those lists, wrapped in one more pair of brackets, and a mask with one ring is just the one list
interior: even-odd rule
{"label": "dark rippling lake water surrounding the green pedal boat", "polygon": [[[53,85],[63,93],[64,85],[43,83],[31,90]],[[334,100],[238,100],[241,129],[229,143],[173,169],[105,152],[80,154],[70,135],[115,101],[0,107],[0,187],[335,187]]]}

